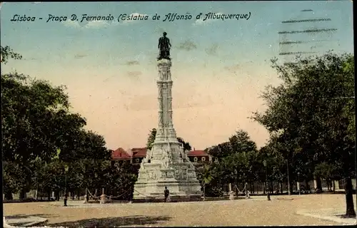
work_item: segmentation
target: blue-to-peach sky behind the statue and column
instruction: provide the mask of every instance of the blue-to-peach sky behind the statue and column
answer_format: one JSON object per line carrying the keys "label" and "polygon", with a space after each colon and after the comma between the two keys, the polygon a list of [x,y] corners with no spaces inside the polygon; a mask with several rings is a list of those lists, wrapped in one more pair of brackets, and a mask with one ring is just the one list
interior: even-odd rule
{"label": "blue-to-peach sky behind the statue and column", "polygon": [[[250,16],[196,19],[200,13],[203,19],[208,13]],[[11,21],[16,14],[35,19]],[[81,21],[83,14],[113,20]],[[121,14],[148,20],[123,21]],[[155,14],[161,18],[153,20]],[[192,18],[164,21],[166,14]],[[325,20],[282,23],[306,19]],[[330,30],[279,33],[314,29]],[[172,44],[174,128],[196,150],[226,142],[238,129],[258,147],[266,143],[268,132],[249,117],[266,110],[264,88],[281,83],[270,59],[292,61],[279,53],[353,53],[351,1],[5,2],[1,46],[23,59],[1,63],[1,73],[65,85],[71,111],[83,115],[86,129],[103,135],[110,149],[145,147],[158,125],[156,57],[164,31]],[[279,44],[286,41],[308,42]]]}

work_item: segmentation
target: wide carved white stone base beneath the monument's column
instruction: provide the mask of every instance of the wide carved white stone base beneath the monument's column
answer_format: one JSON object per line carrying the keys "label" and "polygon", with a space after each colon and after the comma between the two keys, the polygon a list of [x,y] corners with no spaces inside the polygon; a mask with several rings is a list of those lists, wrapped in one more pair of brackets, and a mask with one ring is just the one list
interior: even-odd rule
{"label": "wide carved white stone base beneath the monument's column", "polygon": [[[161,158],[167,150],[171,150],[171,158],[165,163]],[[164,197],[167,187],[171,197],[201,197],[201,185],[191,162],[181,158],[182,147],[179,142],[155,142],[152,148],[151,162],[143,160],[138,180],[134,185],[134,199],[148,197]]]}

